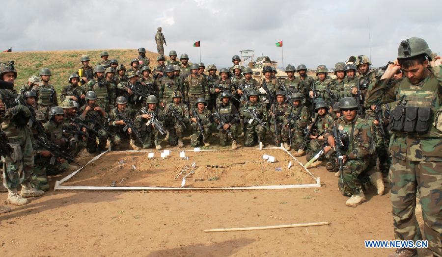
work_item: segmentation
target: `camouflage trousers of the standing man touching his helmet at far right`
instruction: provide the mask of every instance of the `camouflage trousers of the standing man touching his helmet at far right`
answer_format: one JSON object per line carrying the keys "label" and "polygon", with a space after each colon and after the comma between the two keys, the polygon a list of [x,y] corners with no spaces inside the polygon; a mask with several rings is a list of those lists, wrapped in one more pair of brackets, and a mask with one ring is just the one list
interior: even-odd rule
{"label": "camouflage trousers of the standing man touching his helmet at far right", "polygon": [[414,215],[416,193],[420,194],[423,232],[428,248],[442,256],[442,162],[392,159],[389,178],[394,236],[399,240],[422,240]]}

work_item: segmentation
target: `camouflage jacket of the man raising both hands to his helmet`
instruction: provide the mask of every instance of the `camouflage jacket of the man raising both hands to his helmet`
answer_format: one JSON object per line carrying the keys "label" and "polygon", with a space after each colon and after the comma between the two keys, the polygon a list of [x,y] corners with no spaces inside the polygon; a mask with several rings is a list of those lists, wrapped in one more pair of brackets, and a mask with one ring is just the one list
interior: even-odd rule
{"label": "camouflage jacket of the man raising both hands to his helmet", "polygon": [[[428,117],[428,122],[432,124],[427,133],[391,131],[389,150],[395,158],[409,161],[442,161],[442,131],[437,128],[441,125],[435,117],[442,109],[442,65],[428,71],[428,76],[414,85],[408,77],[403,77],[396,80],[375,79],[368,87],[366,101],[369,104],[397,103],[405,96],[406,107],[428,107],[432,110]],[[390,121],[392,115],[393,112]]]}

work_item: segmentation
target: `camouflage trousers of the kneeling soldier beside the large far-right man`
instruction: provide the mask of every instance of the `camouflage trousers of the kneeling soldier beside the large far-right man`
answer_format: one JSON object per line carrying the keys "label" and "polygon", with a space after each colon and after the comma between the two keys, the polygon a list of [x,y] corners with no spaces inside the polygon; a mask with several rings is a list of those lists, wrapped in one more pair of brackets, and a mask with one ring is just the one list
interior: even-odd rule
{"label": "camouflage trousers of the kneeling soldier beside the large far-right man", "polygon": [[367,169],[369,164],[368,160],[348,160],[344,163],[342,174],[344,181],[338,180],[338,187],[344,196],[352,196],[353,194],[359,194],[362,192],[361,177],[363,172]]}

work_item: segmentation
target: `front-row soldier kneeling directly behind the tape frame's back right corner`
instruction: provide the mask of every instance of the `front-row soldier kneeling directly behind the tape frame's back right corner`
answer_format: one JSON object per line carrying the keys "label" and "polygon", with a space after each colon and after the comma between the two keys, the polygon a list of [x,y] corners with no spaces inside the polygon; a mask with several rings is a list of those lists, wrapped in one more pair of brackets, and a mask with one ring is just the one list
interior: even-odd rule
{"label": "front-row soldier kneeling directly behind the tape frame's back right corner", "polygon": [[[291,112],[291,107],[285,103],[285,92],[280,90],[276,92],[276,103],[270,109],[267,117],[270,118],[270,132],[273,135],[273,141],[276,146],[283,142],[285,150],[290,150],[288,130],[282,129],[287,127],[287,118]],[[283,132],[282,132],[283,131]]]}

